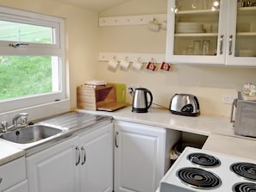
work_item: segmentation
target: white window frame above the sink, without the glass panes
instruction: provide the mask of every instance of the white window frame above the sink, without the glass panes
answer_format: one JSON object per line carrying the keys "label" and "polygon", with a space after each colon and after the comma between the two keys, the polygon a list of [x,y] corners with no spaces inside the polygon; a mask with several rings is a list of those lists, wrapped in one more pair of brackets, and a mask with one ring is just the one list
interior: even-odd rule
{"label": "white window frame above the sink, without the glass panes", "polygon": [[69,93],[67,92],[68,78],[66,77],[64,19],[0,6],[0,20],[3,20],[3,18],[4,21],[9,22],[22,22],[54,28],[55,38],[53,39],[55,39],[55,41],[53,41],[53,44],[28,42],[28,46],[13,47],[9,46],[9,44],[27,42],[0,40],[0,54],[16,56],[58,56],[59,91],[0,101],[0,113],[68,99]]}

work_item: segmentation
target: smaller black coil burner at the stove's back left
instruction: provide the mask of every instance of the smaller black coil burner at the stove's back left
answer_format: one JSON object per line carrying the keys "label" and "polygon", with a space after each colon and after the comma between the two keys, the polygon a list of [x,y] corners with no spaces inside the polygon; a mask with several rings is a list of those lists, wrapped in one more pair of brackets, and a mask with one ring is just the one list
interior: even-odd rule
{"label": "smaller black coil burner at the stove's back left", "polygon": [[221,161],[214,156],[206,153],[194,152],[187,157],[191,163],[198,164],[204,167],[215,167],[221,164]]}

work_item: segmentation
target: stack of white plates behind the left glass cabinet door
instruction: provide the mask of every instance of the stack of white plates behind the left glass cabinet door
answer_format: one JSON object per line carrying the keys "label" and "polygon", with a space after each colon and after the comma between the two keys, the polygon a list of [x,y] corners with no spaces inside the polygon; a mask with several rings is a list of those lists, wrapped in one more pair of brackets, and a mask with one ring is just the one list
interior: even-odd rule
{"label": "stack of white plates behind the left glass cabinet door", "polygon": [[200,22],[178,22],[176,25],[177,34],[204,33],[203,24]]}

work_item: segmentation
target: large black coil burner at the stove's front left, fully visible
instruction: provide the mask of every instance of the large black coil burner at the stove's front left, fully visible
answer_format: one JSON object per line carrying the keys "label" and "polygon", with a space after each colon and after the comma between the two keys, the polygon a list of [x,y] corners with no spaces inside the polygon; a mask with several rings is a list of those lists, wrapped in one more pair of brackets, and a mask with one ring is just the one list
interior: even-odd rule
{"label": "large black coil burner at the stove's front left, fully visible", "polygon": [[214,189],[222,184],[220,177],[207,170],[194,167],[178,170],[177,176],[182,182],[197,189]]}

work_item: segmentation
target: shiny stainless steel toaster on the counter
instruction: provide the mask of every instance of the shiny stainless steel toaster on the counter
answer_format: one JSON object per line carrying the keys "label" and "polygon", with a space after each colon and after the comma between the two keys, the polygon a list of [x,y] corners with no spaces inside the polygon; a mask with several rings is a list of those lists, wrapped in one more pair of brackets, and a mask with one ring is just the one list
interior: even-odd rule
{"label": "shiny stainless steel toaster on the counter", "polygon": [[175,94],[170,103],[172,114],[197,116],[200,115],[199,102],[197,96],[190,94]]}

